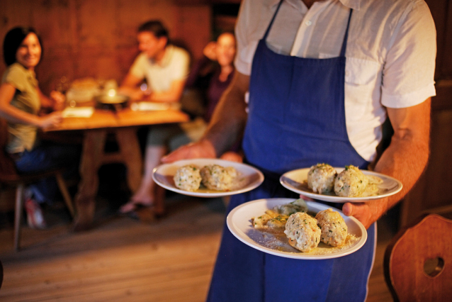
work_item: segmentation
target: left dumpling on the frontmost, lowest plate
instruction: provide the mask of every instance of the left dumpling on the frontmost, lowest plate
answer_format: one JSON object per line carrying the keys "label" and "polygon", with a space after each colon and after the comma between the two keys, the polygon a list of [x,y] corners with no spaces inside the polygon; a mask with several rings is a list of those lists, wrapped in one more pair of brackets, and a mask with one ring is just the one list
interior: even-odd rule
{"label": "left dumpling on the frontmost, lowest plate", "polygon": [[319,245],[321,230],[317,219],[307,213],[297,212],[288,218],[284,233],[295,249],[310,252]]}

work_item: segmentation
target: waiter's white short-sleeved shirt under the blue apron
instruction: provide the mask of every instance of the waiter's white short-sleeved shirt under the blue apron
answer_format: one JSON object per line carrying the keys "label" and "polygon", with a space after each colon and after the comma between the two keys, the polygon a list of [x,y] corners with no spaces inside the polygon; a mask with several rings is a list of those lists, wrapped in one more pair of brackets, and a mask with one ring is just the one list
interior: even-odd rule
{"label": "waiter's white short-sleeved shirt under the blue apron", "polygon": [[[235,66],[251,74],[257,43],[279,0],[244,0],[236,25]],[[345,115],[351,145],[375,158],[385,107],[405,108],[435,95],[436,30],[424,0],[324,0],[281,4],[267,38],[274,52],[297,57],[338,57],[353,9],[346,45]]]}

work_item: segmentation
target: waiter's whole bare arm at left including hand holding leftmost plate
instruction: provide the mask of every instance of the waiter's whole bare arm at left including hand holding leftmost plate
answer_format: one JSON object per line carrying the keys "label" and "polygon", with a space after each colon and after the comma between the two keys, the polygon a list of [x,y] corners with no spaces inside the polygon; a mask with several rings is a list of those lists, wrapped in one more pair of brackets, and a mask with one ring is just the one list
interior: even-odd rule
{"label": "waiter's whole bare arm at left including hand holding leftmost plate", "polygon": [[197,157],[217,157],[229,150],[243,135],[247,123],[245,94],[249,88],[249,76],[235,71],[230,86],[215,108],[212,120],[198,142],[185,145],[162,158],[162,162],[174,162]]}

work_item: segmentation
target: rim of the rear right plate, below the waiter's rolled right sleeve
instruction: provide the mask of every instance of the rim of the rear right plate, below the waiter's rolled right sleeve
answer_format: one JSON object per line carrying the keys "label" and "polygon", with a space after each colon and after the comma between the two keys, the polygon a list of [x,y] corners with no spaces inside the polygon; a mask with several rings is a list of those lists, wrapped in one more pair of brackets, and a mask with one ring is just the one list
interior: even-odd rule
{"label": "rim of the rear right plate, below the waiter's rolled right sleeve", "polygon": [[[343,169],[345,169],[344,167],[333,167],[333,168],[336,169],[337,171],[339,170],[338,173],[340,173]],[[392,181],[395,181],[395,183],[397,184],[397,189],[395,189],[395,191],[391,191],[390,193],[381,194],[381,195],[375,195],[375,196],[342,197],[342,196],[323,195],[323,194],[303,191],[303,190],[294,188],[293,186],[290,186],[289,184],[286,184],[285,181],[283,181],[284,177],[288,178],[287,174],[299,172],[299,171],[302,171],[302,170],[308,170],[309,171],[309,169],[310,169],[310,167],[309,168],[293,169],[293,170],[290,170],[288,172],[285,172],[284,174],[281,175],[281,177],[279,177],[279,182],[286,189],[288,189],[290,191],[293,191],[295,193],[301,194],[301,195],[306,196],[306,197],[314,198],[314,199],[317,199],[317,200],[320,200],[320,201],[333,202],[333,203],[346,203],[346,202],[361,203],[361,202],[366,202],[366,201],[374,201],[374,200],[377,200],[377,199],[381,199],[381,198],[385,198],[385,197],[397,194],[403,188],[402,181],[400,181],[398,179],[395,179],[394,177],[390,177],[389,175],[385,175],[385,174],[382,174],[382,173],[379,173],[379,172],[369,171],[369,170],[365,170],[365,169],[360,169],[361,172],[363,172],[363,174],[365,174],[365,175],[372,175],[372,176],[376,176],[376,177],[384,177],[386,179],[390,179]]]}

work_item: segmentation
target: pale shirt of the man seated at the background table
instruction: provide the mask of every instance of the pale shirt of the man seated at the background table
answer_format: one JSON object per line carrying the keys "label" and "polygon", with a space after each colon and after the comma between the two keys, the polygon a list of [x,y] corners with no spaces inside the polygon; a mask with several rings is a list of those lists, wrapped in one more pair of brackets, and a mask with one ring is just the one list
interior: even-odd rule
{"label": "pale shirt of the man seated at the background table", "polygon": [[142,52],[137,56],[130,74],[138,79],[146,79],[152,91],[168,91],[171,83],[186,79],[190,65],[190,56],[182,48],[168,45],[161,62],[154,62]]}

